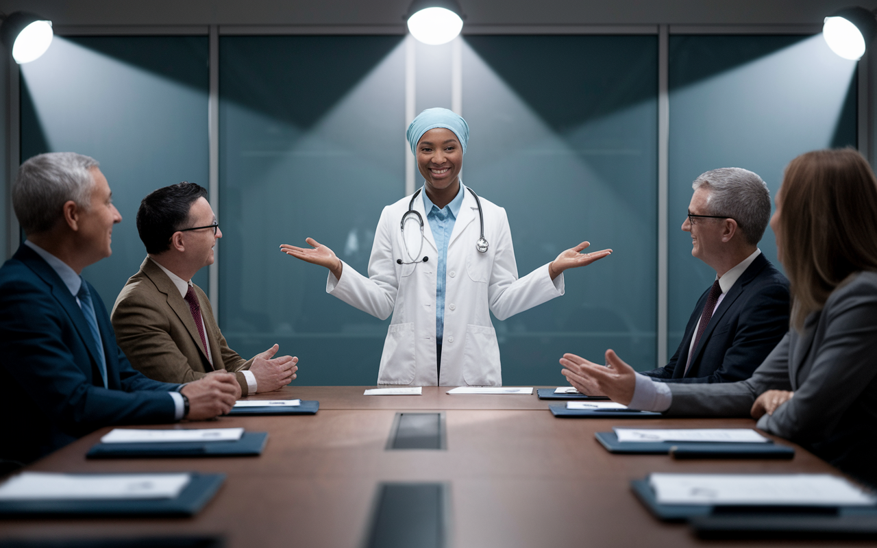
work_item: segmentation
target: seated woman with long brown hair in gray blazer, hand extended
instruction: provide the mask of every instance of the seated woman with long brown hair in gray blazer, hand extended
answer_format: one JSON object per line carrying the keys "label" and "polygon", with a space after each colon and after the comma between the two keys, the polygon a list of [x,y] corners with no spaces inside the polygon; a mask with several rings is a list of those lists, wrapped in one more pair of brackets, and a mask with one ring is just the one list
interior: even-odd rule
{"label": "seated woman with long brown hair in gray blazer, hand extended", "polygon": [[790,330],[746,381],[662,385],[634,399],[615,352],[603,367],[560,363],[586,394],[670,416],[747,416],[877,486],[877,179],[852,149],[802,154],[786,168],[771,219],[791,282]]}

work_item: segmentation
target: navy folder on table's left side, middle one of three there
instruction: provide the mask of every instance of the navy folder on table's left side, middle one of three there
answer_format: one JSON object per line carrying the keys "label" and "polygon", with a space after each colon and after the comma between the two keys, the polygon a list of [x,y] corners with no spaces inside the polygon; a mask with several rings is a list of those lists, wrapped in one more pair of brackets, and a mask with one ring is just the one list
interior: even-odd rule
{"label": "navy folder on table's left side, middle one of three there", "polygon": [[262,454],[267,432],[244,432],[234,441],[141,442],[97,444],[89,459],[143,459],[151,457],[255,457]]}

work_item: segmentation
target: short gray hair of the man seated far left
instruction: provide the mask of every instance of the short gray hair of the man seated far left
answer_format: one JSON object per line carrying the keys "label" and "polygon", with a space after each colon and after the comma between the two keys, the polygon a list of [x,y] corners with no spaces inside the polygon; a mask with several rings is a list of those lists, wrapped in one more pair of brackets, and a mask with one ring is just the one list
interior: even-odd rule
{"label": "short gray hair of the man seated far left", "polygon": [[29,234],[51,230],[61,218],[64,203],[73,200],[88,211],[95,178],[89,172],[97,160],[77,153],[45,153],[18,167],[12,183],[12,207]]}

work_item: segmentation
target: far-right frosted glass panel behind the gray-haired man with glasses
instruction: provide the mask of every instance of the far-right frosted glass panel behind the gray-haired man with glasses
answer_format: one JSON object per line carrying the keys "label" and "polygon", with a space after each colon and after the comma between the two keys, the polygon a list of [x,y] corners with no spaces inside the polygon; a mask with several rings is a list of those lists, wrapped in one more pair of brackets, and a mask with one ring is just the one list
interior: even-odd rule
{"label": "far-right frosted glass panel behind the gray-haired man with glasses", "polygon": [[[821,35],[670,37],[671,355],[716,277],[691,256],[691,238],[680,229],[691,181],[709,169],[745,167],[775,196],[783,168],[798,154],[855,146],[855,66],[831,53]],[[780,266],[769,227],[759,247]]]}

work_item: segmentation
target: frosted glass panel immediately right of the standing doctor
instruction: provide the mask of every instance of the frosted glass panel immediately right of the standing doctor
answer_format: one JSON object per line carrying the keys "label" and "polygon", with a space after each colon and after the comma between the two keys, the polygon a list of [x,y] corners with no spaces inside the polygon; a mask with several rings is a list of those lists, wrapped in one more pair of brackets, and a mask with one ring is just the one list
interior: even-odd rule
{"label": "frosted glass panel immediately right of the standing doctor", "polygon": [[558,359],[654,367],[657,39],[467,36],[463,181],[509,214],[519,275],[582,240],[615,253],[566,295],[494,320],[505,384],[566,384]]}

